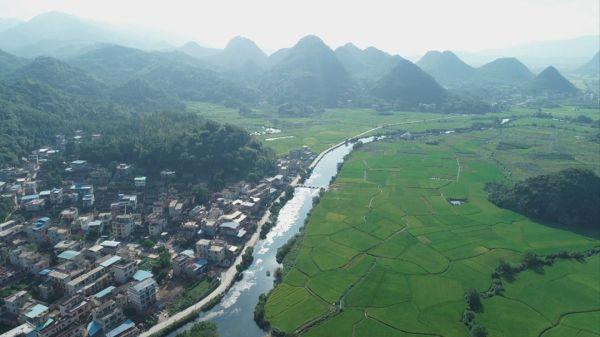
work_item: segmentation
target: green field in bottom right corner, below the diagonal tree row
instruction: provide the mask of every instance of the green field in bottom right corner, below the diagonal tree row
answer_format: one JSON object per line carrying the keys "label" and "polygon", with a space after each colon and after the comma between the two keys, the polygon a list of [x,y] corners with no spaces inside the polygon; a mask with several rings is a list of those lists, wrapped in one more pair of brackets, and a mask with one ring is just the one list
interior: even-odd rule
{"label": "green field in bottom right corner, below the diagonal tree row", "polygon": [[[560,261],[520,273],[502,296],[484,300],[480,321],[490,336],[600,334],[600,257]],[[519,312],[516,317],[514,312]],[[514,324],[519,319],[520,324]]]}

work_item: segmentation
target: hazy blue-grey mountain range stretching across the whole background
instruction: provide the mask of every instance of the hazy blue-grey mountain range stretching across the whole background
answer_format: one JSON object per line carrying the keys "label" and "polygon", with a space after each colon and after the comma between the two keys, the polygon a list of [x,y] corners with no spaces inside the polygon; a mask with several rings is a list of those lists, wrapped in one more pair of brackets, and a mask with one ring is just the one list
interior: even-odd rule
{"label": "hazy blue-grey mountain range stretching across the whole background", "polygon": [[[71,15],[46,13],[0,30],[0,49],[8,51],[0,52],[0,77],[151,109],[179,106],[182,101],[417,107],[445,104],[448,99],[458,109],[462,103],[455,104],[460,96],[456,88],[485,87],[488,93],[501,95],[507,89],[525,94],[577,93],[556,68],[536,77],[514,57],[475,68],[451,51],[430,51],[414,64],[352,43],[334,51],[314,35],[270,56],[241,36],[224,49],[189,41],[155,50],[159,45],[169,44],[157,36],[142,38],[135,31],[124,33]],[[43,57],[34,58],[39,55]],[[595,57],[596,61],[581,65],[582,73],[591,74],[586,76],[594,77]],[[492,103],[498,95],[490,97],[475,99]]]}

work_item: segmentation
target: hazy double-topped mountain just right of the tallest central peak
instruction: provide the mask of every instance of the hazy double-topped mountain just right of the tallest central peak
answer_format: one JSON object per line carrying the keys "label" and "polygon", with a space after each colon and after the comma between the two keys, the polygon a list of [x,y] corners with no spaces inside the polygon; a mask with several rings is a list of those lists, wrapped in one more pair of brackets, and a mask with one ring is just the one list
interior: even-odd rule
{"label": "hazy double-topped mountain just right of the tallest central peak", "polygon": [[352,43],[338,47],[335,54],[354,78],[366,80],[381,78],[402,60],[375,47],[362,50]]}

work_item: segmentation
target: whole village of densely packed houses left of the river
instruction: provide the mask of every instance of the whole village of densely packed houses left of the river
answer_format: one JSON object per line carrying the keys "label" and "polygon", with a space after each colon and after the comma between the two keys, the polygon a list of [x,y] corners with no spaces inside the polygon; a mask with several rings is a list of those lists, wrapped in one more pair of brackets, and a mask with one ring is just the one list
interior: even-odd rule
{"label": "whole village of densely packed houses left of the river", "polygon": [[199,301],[316,157],[294,150],[275,175],[210,192],[176,170],[147,177],[128,163],[79,158],[60,179],[42,178],[86,136],[99,137],[58,135],[21,167],[0,170],[2,201],[14,209],[0,219],[3,336],[136,336]]}

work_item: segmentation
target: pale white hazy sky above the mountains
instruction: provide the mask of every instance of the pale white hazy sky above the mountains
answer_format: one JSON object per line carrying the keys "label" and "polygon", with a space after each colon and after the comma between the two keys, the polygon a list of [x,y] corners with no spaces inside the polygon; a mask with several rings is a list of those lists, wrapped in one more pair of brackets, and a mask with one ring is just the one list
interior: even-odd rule
{"label": "pale white hazy sky above the mountains", "polygon": [[0,17],[62,11],[158,28],[223,47],[243,35],[267,52],[316,34],[401,55],[476,51],[599,34],[599,0],[0,0]]}

